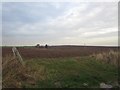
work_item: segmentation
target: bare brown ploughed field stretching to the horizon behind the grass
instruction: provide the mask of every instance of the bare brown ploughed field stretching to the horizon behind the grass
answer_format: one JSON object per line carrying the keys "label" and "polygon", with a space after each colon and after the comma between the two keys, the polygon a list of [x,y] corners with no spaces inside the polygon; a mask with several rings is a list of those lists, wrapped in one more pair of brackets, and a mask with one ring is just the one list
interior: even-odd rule
{"label": "bare brown ploughed field stretching to the horizon behind the grass", "polygon": [[[102,46],[49,46],[48,48],[17,47],[17,49],[23,58],[30,59],[88,56],[110,50],[116,51],[118,48]],[[12,47],[2,47],[3,57],[10,54],[12,54]]]}

